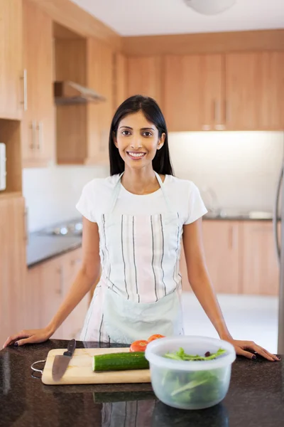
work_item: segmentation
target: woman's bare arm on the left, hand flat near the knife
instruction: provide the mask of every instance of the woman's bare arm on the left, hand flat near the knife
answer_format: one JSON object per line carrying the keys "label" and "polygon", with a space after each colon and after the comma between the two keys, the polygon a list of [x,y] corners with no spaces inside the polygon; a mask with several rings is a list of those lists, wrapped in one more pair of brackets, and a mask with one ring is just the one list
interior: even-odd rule
{"label": "woman's bare arm on the left, hand flat near the knife", "polygon": [[[70,315],[72,310],[79,304],[84,295],[87,294],[96,282],[100,273],[99,258],[99,230],[97,223],[83,218],[82,236],[82,266],[77,273],[74,283],[67,293],[65,300],[60,305],[58,312],[50,321],[49,325],[40,330],[22,330],[18,334],[11,335],[4,347],[9,344],[23,345],[27,343],[44,342],[50,338],[58,327]],[[44,304],[44,301],[41,302]],[[3,347],[3,348],[4,348]]]}

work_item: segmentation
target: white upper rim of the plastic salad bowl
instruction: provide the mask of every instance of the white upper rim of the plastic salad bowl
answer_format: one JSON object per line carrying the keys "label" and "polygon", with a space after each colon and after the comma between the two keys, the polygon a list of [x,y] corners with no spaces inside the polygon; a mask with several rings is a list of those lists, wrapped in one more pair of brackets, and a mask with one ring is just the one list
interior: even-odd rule
{"label": "white upper rim of the plastic salad bowl", "polygon": [[[178,352],[182,347],[186,353],[203,355],[205,352],[217,352],[219,348],[226,353],[213,360],[173,360],[165,356],[167,352]],[[180,371],[207,371],[224,368],[232,364],[236,359],[234,346],[223,339],[187,336],[159,338],[150,342],[146,347],[145,357],[151,364],[160,368],[178,369]]]}

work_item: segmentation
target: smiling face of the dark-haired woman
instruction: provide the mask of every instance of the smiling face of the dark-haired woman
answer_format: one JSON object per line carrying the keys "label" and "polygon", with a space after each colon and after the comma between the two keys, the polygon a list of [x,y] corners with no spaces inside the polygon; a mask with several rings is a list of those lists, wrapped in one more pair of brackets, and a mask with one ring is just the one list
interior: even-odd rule
{"label": "smiling face of the dark-haired woman", "polygon": [[163,147],[165,134],[159,138],[158,129],[139,111],[124,117],[119,123],[114,144],[127,166],[142,168],[152,164],[157,149]]}

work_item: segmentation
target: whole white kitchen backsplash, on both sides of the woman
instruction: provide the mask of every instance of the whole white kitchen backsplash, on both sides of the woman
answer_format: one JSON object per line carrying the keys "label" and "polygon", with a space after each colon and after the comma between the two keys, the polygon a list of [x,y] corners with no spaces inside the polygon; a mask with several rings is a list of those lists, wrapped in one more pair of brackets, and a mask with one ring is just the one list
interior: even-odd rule
{"label": "whole white kitchen backsplash, on both sides of the woman", "polygon": [[[283,161],[283,132],[187,132],[170,134],[175,175],[190,179],[204,195],[210,187],[230,210],[271,211]],[[108,167],[23,169],[29,231],[78,216],[82,187]]]}

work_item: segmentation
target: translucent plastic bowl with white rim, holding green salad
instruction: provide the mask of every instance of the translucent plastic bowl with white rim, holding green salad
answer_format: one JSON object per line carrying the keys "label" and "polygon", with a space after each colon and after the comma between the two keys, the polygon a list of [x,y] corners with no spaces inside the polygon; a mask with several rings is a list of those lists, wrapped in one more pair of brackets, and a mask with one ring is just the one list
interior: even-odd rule
{"label": "translucent plastic bowl with white rim, holding green salad", "polygon": [[[219,348],[226,353],[217,359],[179,361],[164,357],[180,347],[187,354],[204,356]],[[222,339],[182,336],[160,338],[146,347],[151,383],[155,395],[164,404],[181,409],[202,409],[219,404],[229,389],[231,364],[236,359],[234,346]]]}

